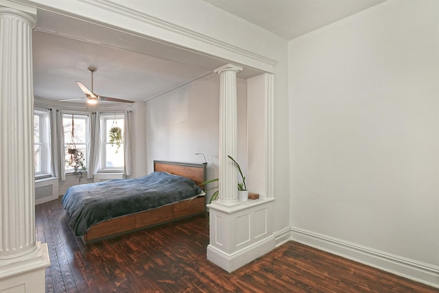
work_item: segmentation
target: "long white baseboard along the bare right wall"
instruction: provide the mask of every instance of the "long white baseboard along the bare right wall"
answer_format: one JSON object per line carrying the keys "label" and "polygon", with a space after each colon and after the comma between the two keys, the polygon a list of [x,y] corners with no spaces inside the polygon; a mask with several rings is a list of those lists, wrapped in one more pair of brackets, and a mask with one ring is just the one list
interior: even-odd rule
{"label": "long white baseboard along the bare right wall", "polygon": [[299,228],[291,228],[291,239],[307,246],[439,288],[439,267],[429,263],[391,255],[380,250],[359,246]]}

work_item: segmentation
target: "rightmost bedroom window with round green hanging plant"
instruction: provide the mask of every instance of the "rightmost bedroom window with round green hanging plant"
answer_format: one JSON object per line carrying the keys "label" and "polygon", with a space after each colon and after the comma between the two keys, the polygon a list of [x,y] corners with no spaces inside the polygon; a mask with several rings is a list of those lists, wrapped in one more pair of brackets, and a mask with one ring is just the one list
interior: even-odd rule
{"label": "rightmost bedroom window with round green hanging plant", "polygon": [[101,169],[106,171],[123,170],[123,141],[119,147],[116,143],[110,143],[110,129],[113,127],[121,128],[123,137],[123,113],[105,113],[101,114]]}

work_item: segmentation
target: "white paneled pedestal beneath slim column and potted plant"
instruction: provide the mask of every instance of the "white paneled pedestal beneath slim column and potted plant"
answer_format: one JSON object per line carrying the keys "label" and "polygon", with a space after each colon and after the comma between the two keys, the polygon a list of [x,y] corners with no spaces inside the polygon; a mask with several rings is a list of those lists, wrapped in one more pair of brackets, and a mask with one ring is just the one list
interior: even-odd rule
{"label": "white paneled pedestal beneath slim column and potted plant", "polygon": [[259,198],[233,206],[217,201],[208,204],[211,239],[207,259],[233,272],[274,249],[272,202]]}

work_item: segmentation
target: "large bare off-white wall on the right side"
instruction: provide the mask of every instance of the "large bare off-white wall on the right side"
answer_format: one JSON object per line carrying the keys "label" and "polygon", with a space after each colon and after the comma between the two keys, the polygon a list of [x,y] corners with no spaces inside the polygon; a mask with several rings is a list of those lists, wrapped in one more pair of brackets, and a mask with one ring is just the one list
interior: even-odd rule
{"label": "large bare off-white wall on the right side", "polygon": [[289,42],[293,228],[438,270],[438,12],[390,0]]}

